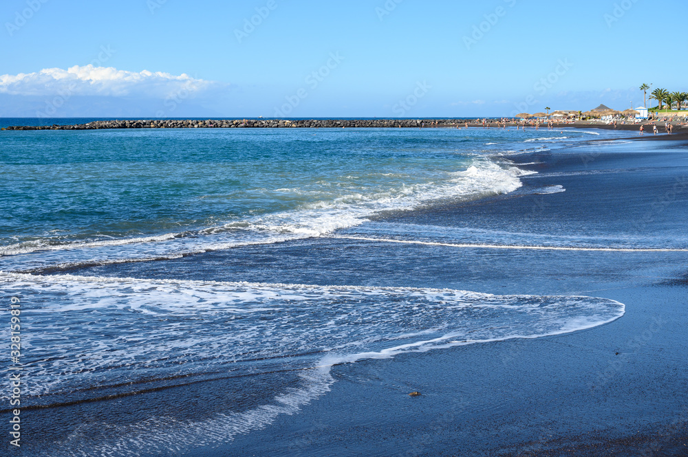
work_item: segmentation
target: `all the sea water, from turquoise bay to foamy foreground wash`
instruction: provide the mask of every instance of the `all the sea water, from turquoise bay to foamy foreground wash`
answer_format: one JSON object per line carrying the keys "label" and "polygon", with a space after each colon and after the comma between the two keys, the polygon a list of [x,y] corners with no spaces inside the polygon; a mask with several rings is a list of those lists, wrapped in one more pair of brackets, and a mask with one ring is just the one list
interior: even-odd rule
{"label": "all the sea water, from turquoise bay to foamy foreground wash", "polygon": [[[6,309],[11,296],[21,298],[22,402],[36,414],[25,455],[205,455],[326,395],[338,364],[559,335],[618,319],[623,304],[594,297],[499,296],[374,278],[375,285],[342,284],[336,269],[309,282],[308,249],[270,282],[241,274],[184,278],[177,261],[201,271],[202,254],[229,258],[233,249],[261,247],[262,256],[279,256],[278,247],[312,239],[330,249],[379,239],[633,249],[635,238],[552,234],[543,241],[501,227],[393,222],[409,210],[520,192],[535,172],[514,157],[619,135],[1,132],[0,290]],[[258,256],[241,262],[261,267]],[[369,267],[376,258],[352,262]],[[138,265],[136,277],[118,274],[118,265]],[[403,260],[394,265],[406,267]],[[12,365],[8,353],[0,361]]]}

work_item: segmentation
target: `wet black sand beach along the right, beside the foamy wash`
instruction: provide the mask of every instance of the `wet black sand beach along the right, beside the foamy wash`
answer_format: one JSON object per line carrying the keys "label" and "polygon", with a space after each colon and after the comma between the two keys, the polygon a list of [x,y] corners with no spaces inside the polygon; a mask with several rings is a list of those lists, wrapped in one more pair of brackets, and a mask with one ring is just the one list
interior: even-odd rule
{"label": "wet black sand beach along the right, beside the foamy wash", "polygon": [[[323,397],[259,434],[206,449],[208,456],[688,455],[686,149],[592,142],[514,160],[537,175],[512,194],[390,214],[334,238],[74,273],[275,282],[288,271],[294,283],[336,276],[347,285],[584,295],[626,305],[621,319],[588,331],[335,366]],[[552,186],[566,191],[539,191]],[[529,238],[525,244],[591,250],[355,239],[394,238],[416,225],[434,227],[446,243],[483,243],[489,234],[480,230],[489,229]],[[414,391],[421,395],[409,397]]]}

